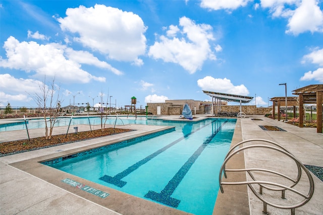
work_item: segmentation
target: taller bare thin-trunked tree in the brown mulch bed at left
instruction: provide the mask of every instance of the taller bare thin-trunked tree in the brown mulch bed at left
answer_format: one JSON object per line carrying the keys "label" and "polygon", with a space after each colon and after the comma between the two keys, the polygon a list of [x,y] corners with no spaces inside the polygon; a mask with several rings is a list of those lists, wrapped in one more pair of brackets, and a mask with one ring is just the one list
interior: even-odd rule
{"label": "taller bare thin-trunked tree in the brown mulch bed at left", "polygon": [[50,85],[47,86],[45,77],[43,82],[38,82],[38,87],[40,92],[35,93],[33,99],[44,114],[43,117],[45,120],[45,139],[51,139],[53,127],[58,121],[57,107],[60,105],[60,101],[62,101],[59,101],[60,86],[57,86],[55,84],[55,77],[53,78]]}

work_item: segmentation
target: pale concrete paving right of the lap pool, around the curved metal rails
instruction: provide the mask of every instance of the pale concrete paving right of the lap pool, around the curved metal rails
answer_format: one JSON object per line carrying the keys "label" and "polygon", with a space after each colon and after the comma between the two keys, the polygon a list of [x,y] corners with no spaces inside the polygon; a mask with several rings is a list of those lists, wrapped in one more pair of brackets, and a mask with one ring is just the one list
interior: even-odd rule
{"label": "pale concrete paving right of the lap pool, around the curved metal rails", "polygon": [[[259,125],[277,126],[286,131],[263,130]],[[290,151],[302,164],[323,167],[323,134],[316,133],[316,128],[299,128],[282,121],[254,115],[241,119],[241,129],[243,140],[260,138],[274,141]],[[297,174],[295,163],[287,159],[286,156],[282,156],[281,153],[267,149],[251,150],[246,151],[244,157],[247,168],[271,169],[270,167],[275,165],[275,169],[280,173]],[[313,196],[305,205],[296,208],[295,214],[323,214],[323,182],[315,175],[311,175],[314,181]],[[275,178],[272,181],[276,182]],[[305,174],[302,175],[300,185],[295,188],[305,194],[308,193],[309,184]],[[264,192],[266,191],[264,190]],[[262,214],[262,201],[250,189],[248,189],[248,196],[250,214]],[[278,199],[280,199],[278,202],[283,202],[282,204],[292,204],[295,203],[294,200],[296,201],[297,196],[294,196],[294,193],[287,194],[286,192],[286,199],[280,197]],[[291,214],[290,209],[279,209],[272,206],[267,206],[267,211],[270,214]]]}

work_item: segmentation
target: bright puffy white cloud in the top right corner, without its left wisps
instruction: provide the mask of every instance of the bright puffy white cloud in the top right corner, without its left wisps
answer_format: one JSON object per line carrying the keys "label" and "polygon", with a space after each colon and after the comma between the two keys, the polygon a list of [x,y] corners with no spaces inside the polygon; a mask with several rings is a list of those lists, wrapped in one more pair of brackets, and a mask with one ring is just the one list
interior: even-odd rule
{"label": "bright puffy white cloud in the top right corner, without its left wisps", "polygon": [[286,33],[298,35],[305,31],[323,31],[323,12],[319,9],[315,0],[303,0],[289,19]]}

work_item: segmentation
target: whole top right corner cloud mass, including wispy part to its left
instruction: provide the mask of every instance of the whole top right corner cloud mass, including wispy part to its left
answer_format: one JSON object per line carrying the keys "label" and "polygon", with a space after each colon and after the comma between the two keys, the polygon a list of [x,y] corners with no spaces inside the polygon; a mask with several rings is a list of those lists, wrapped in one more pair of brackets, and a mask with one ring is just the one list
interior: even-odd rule
{"label": "whole top right corner cloud mass, including wispy part to its left", "polygon": [[261,0],[261,7],[269,8],[273,17],[288,19],[286,33],[323,31],[323,12],[316,0]]}

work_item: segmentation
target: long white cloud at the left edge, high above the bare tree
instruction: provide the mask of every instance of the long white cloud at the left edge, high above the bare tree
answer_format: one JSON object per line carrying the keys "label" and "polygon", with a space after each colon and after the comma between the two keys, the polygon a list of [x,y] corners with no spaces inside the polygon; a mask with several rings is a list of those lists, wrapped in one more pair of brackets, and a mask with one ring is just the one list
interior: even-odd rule
{"label": "long white cloud at the left edge, high above the bare tree", "polygon": [[[67,59],[64,55],[66,47],[63,45],[57,43],[39,45],[34,41],[19,42],[10,36],[5,42],[4,48],[8,59],[0,58],[0,67],[20,69],[27,73],[35,71],[34,77],[43,78],[46,75],[56,77],[60,82],[88,83],[91,80],[105,82],[104,77],[92,76],[81,69],[81,64],[77,61]],[[72,55],[70,57],[73,58]],[[97,63],[104,64],[98,60],[95,63],[96,66]]]}

